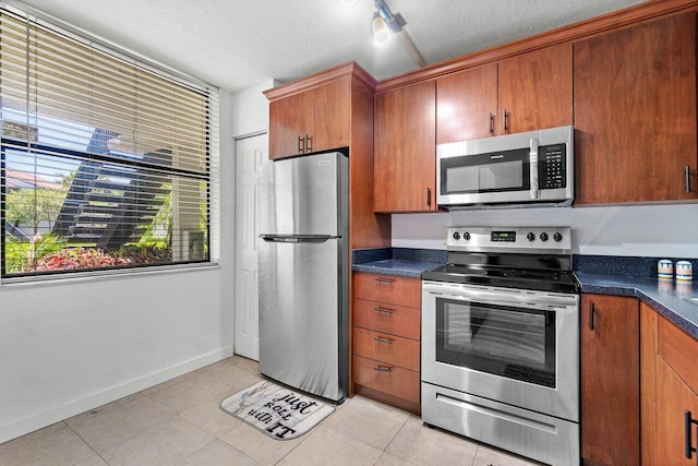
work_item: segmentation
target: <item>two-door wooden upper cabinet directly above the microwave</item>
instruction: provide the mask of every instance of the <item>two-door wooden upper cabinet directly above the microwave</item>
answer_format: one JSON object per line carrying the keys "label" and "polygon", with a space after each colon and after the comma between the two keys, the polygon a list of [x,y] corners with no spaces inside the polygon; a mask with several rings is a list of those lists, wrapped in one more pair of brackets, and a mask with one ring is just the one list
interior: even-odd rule
{"label": "two-door wooden upper cabinet directly above the microwave", "polygon": [[571,124],[571,89],[569,43],[445,75],[436,80],[436,143]]}

